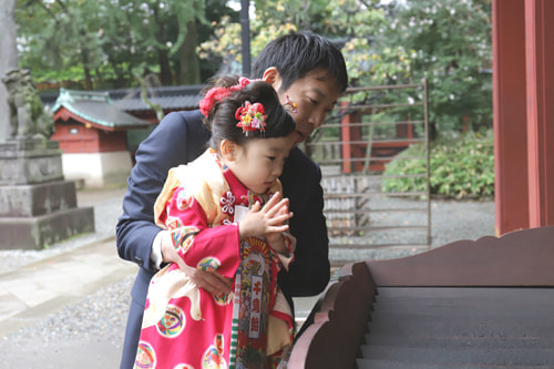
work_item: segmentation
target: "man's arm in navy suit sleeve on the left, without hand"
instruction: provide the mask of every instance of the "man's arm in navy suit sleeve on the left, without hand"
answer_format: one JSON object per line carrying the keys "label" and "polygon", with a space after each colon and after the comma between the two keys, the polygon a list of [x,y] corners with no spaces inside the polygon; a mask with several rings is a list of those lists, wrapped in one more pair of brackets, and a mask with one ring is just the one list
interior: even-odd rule
{"label": "man's arm in navy suit sleeve on the left, without hand", "polygon": [[168,114],[141,143],[115,227],[121,258],[150,271],[156,269],[151,254],[161,228],[154,224],[154,202],[170,168],[196,158],[208,136],[199,112],[179,112]]}

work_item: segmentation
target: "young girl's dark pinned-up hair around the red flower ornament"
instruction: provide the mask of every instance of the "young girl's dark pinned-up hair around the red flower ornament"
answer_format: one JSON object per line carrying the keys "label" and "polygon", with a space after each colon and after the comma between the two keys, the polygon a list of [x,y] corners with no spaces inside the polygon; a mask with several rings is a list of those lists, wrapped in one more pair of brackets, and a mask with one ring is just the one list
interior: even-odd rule
{"label": "young girl's dark pinned-up hair around the red flower ornament", "polygon": [[[237,85],[238,81],[238,76],[235,75],[224,76],[216,80],[214,86],[230,88]],[[238,120],[235,113],[246,101],[264,105],[265,115],[267,115],[265,131],[250,131],[246,135],[243,129],[237,126]],[[274,88],[261,80],[250,81],[242,90],[233,91],[227,98],[217,101],[204,123],[212,131],[208,144],[213,148],[218,148],[222,140],[229,140],[242,145],[252,139],[284,137],[296,127],[295,120],[280,104]]]}

